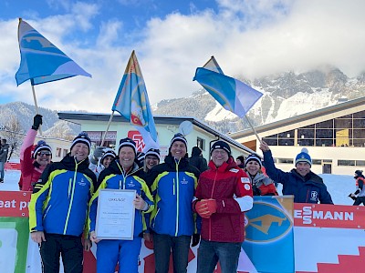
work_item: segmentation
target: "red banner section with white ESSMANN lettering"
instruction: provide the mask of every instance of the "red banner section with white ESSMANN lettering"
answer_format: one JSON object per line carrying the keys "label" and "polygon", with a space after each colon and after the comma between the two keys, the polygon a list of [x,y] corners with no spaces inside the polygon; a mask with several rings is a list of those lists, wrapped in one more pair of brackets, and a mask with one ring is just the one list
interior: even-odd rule
{"label": "red banner section with white ESSMANN lettering", "polygon": [[365,207],[294,204],[296,227],[365,228]]}

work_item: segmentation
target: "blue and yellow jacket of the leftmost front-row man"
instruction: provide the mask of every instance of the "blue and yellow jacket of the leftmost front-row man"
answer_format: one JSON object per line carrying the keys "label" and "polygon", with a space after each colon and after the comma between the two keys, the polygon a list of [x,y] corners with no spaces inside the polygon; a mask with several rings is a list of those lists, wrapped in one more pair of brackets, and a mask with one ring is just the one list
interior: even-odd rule
{"label": "blue and yellow jacket of the leftmost front-row man", "polygon": [[49,165],[36,182],[30,199],[30,232],[82,235],[96,182],[88,158],[77,162],[68,154]]}

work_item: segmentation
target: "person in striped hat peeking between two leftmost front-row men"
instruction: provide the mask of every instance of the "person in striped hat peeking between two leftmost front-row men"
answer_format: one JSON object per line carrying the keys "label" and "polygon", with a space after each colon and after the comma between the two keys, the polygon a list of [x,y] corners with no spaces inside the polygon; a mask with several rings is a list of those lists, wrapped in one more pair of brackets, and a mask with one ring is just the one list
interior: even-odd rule
{"label": "person in striped hat peeking between two leftmost front-row men", "polygon": [[89,169],[99,178],[100,173],[110,166],[117,155],[110,147],[97,147],[94,150],[92,157],[90,157]]}

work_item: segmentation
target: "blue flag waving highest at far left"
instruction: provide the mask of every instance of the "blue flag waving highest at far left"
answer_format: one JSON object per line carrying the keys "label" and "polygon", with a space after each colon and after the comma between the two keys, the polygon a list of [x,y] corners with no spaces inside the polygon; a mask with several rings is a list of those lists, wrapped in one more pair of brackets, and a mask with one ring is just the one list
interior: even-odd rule
{"label": "blue flag waving highest at far left", "polygon": [[17,86],[28,79],[36,86],[71,76],[91,77],[22,18],[19,18],[18,41],[21,61],[16,72]]}

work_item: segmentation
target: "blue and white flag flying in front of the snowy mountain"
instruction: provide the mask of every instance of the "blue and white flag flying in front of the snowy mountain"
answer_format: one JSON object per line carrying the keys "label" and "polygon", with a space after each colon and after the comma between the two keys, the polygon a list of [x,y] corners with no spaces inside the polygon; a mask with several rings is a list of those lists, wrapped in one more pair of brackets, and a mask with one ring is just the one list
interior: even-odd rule
{"label": "blue and white flag flying in front of the snowy mountain", "polygon": [[224,109],[239,117],[245,116],[255,102],[263,96],[251,86],[233,77],[225,76],[214,56],[203,67],[196,68],[193,80],[214,96]]}

